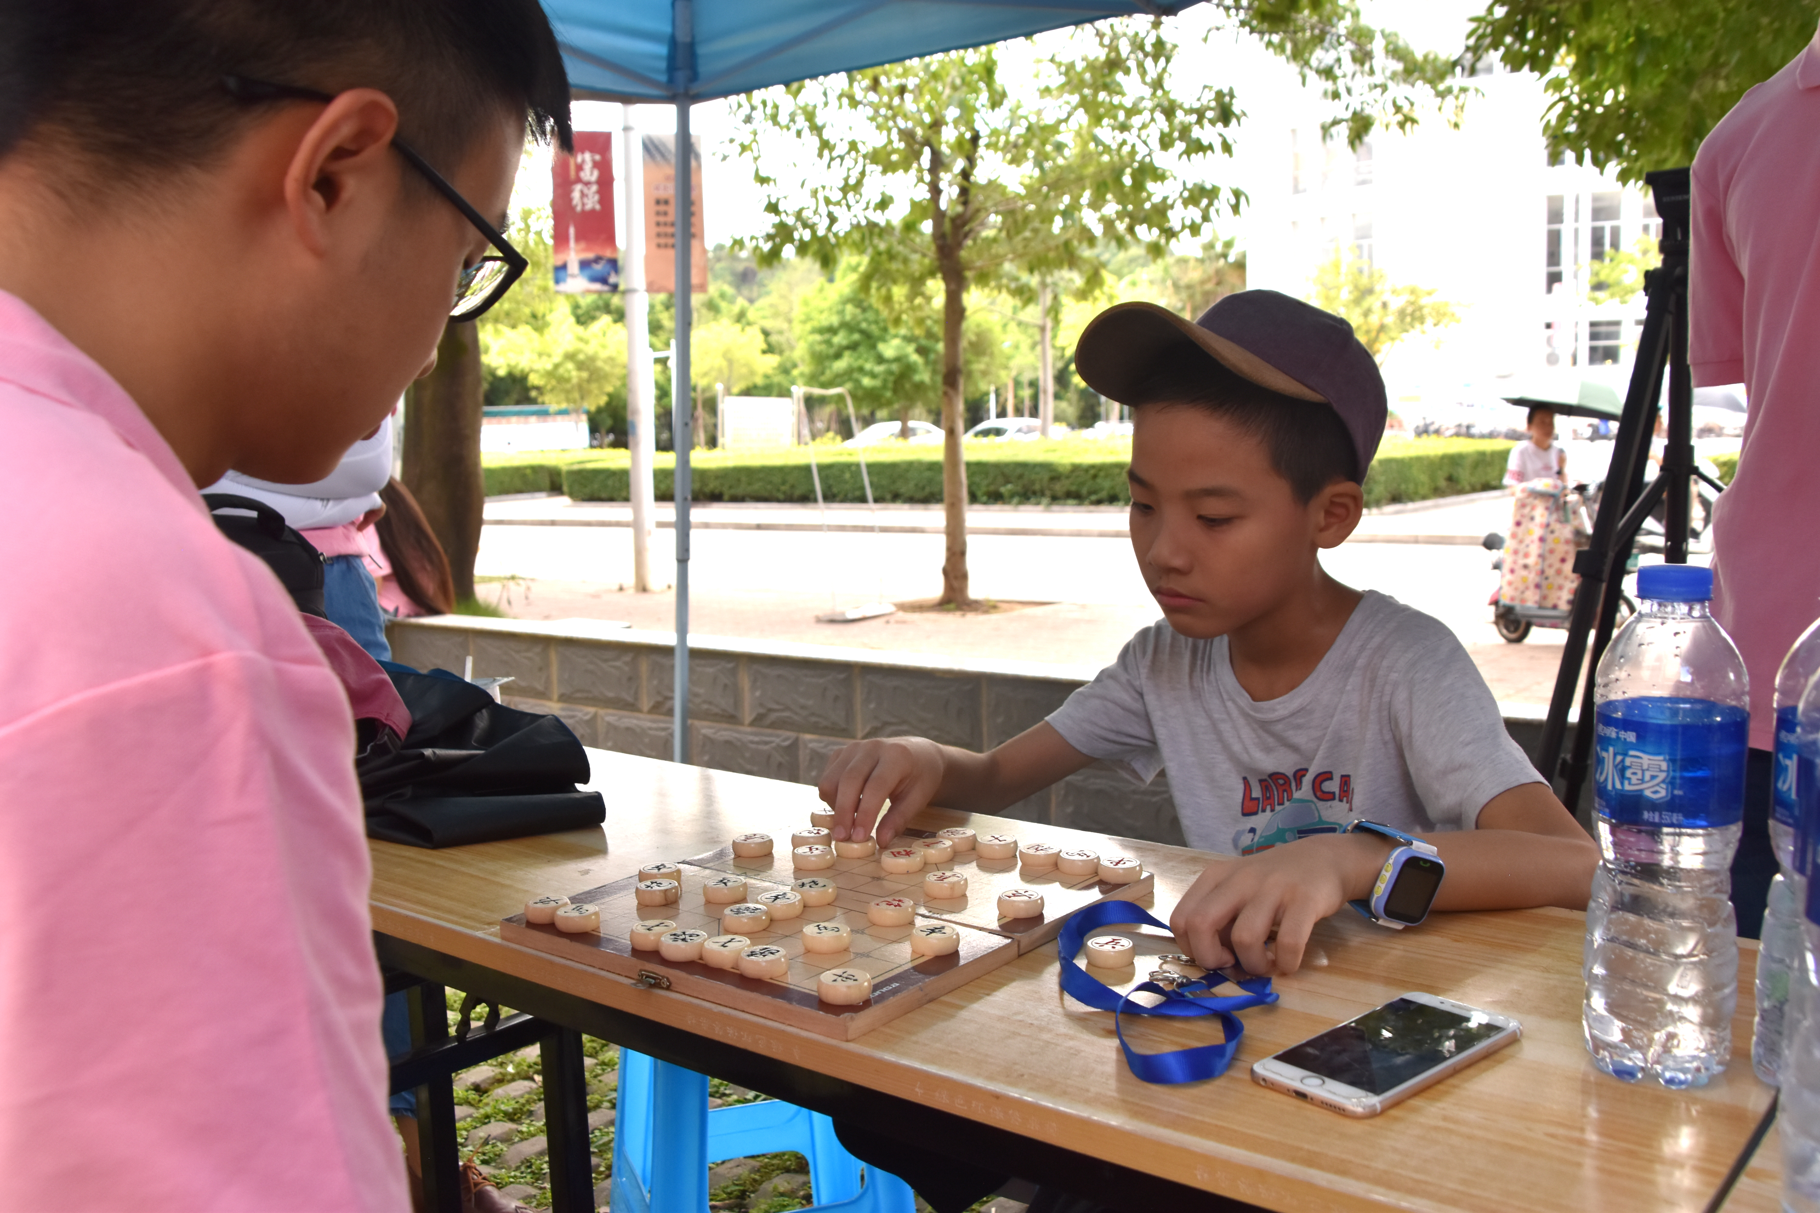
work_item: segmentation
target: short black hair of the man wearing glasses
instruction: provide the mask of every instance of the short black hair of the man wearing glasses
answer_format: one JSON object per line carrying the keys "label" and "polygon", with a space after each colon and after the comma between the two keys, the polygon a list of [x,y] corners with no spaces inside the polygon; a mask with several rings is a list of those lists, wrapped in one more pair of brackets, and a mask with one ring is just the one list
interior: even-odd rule
{"label": "short black hair of the man wearing glasses", "polygon": [[206,167],[266,109],[235,102],[231,75],[380,89],[444,171],[504,113],[573,144],[537,0],[0,0],[0,156],[47,136],[104,189]]}

